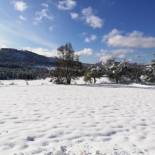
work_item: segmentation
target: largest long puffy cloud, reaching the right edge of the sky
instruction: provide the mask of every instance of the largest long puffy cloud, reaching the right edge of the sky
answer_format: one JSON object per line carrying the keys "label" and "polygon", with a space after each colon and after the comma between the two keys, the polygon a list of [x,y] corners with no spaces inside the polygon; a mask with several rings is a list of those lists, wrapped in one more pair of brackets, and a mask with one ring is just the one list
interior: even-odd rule
{"label": "largest long puffy cloud, reaching the right edge of the sky", "polygon": [[123,34],[123,32],[113,29],[103,37],[102,41],[113,47],[155,48],[155,37],[145,36],[139,31]]}

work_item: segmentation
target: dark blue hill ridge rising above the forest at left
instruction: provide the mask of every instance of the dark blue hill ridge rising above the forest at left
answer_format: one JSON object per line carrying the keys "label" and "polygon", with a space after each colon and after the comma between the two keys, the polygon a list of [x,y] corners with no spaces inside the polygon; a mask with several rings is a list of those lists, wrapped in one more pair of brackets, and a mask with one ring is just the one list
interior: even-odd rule
{"label": "dark blue hill ridge rising above the forest at left", "polygon": [[27,50],[12,48],[0,49],[0,65],[19,66],[55,66],[57,58],[38,55]]}

